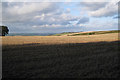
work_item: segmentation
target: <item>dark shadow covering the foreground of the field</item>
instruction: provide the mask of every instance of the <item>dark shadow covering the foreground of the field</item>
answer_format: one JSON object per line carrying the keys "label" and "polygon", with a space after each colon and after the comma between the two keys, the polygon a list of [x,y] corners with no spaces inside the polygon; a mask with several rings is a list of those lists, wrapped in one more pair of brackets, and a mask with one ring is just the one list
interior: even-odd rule
{"label": "dark shadow covering the foreground of the field", "polygon": [[3,46],[4,78],[117,78],[118,43]]}

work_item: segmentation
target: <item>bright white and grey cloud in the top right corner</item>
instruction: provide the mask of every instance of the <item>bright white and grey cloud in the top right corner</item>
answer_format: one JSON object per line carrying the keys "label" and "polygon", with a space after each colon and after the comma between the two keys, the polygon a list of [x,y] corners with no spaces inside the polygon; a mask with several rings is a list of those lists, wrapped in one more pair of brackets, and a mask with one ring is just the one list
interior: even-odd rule
{"label": "bright white and grey cloud in the top right corner", "polygon": [[[96,2],[94,2],[96,1]],[[85,0],[81,3],[84,6],[86,12],[93,17],[107,17],[117,15],[118,12],[118,2],[119,0],[110,0],[111,2],[97,2],[98,0],[94,0],[93,2],[89,2],[89,0]]]}

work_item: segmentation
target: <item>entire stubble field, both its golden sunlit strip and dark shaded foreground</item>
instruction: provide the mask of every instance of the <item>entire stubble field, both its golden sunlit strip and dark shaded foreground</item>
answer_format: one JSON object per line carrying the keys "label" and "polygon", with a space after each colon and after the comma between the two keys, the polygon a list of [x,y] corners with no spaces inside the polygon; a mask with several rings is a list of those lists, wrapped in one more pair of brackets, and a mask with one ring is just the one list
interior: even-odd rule
{"label": "entire stubble field, both its golden sunlit strip and dark shaded foreground", "polygon": [[118,33],[2,37],[4,78],[118,78]]}

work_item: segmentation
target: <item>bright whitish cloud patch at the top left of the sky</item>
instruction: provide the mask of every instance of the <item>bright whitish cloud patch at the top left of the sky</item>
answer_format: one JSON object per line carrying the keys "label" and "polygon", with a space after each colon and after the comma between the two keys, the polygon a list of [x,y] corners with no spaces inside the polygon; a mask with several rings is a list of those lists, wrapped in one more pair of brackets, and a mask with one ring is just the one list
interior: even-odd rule
{"label": "bright whitish cloud patch at the top left of the sky", "polygon": [[49,8],[52,3],[22,3],[21,5],[15,5],[15,3],[9,3],[9,8],[6,10],[10,14],[29,14],[32,12],[42,11]]}

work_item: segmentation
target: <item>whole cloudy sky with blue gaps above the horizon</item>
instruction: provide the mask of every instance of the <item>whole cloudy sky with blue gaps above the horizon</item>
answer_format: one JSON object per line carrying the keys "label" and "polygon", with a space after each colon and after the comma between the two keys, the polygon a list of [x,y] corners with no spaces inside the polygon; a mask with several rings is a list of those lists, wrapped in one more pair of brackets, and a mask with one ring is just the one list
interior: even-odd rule
{"label": "whole cloudy sky with blue gaps above the horizon", "polygon": [[11,33],[60,33],[118,29],[118,1],[2,1],[2,23]]}

